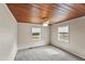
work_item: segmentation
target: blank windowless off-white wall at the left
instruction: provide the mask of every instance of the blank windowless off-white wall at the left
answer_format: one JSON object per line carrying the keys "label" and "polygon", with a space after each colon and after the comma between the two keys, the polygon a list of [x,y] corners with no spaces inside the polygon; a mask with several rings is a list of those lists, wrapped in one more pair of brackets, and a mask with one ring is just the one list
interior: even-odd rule
{"label": "blank windowless off-white wall at the left", "polygon": [[0,61],[14,60],[17,48],[17,23],[5,4],[0,3]]}

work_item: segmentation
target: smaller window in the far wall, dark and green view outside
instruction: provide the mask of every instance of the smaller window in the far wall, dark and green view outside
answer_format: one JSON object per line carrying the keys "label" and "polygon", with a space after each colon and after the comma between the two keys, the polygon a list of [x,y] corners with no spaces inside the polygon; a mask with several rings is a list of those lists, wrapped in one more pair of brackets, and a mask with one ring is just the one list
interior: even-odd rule
{"label": "smaller window in the far wall, dark and green view outside", "polygon": [[38,40],[41,39],[41,28],[32,28],[32,39]]}

